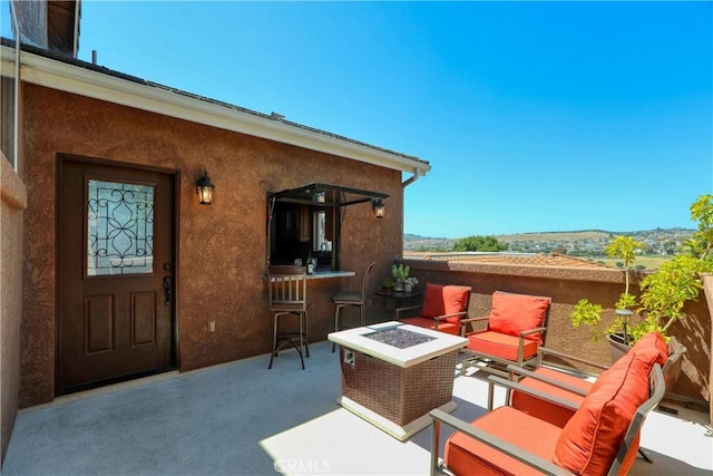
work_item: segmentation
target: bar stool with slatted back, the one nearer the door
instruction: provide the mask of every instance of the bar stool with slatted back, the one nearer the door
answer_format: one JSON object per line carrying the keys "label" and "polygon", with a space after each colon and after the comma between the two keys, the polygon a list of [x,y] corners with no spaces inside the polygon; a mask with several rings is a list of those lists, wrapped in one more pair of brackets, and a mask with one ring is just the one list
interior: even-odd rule
{"label": "bar stool with slatted back, the one nearer the door", "polygon": [[[267,369],[272,369],[272,362],[280,350],[285,346],[292,346],[300,354],[302,370],[304,358],[310,357],[307,339],[307,274],[303,266],[273,265],[267,273],[267,289],[270,297],[270,310],[274,313],[272,353]],[[297,326],[293,329],[280,328],[280,321],[284,317],[295,315]],[[283,326],[284,327],[284,326]],[[304,356],[303,356],[304,348]]]}

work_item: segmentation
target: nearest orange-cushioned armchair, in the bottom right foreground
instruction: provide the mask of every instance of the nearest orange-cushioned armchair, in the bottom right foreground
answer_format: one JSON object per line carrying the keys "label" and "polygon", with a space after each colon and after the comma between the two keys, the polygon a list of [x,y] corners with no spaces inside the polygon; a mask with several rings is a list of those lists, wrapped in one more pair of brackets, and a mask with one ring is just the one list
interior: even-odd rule
{"label": "nearest orange-cushioned armchair, in the bottom right foreground", "polygon": [[[665,392],[657,344],[632,349],[592,386],[560,428],[511,406],[467,424],[432,410],[431,473],[442,466],[459,476],[541,474],[626,474],[636,458],[638,434]],[[511,366],[515,367],[515,366]],[[496,376],[489,380],[525,391]],[[440,425],[457,429],[439,458]]]}

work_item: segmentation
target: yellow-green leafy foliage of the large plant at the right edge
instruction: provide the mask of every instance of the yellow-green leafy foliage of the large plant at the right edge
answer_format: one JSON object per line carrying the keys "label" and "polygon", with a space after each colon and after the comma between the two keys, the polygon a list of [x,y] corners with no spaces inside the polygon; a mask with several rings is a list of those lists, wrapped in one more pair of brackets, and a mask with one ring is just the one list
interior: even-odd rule
{"label": "yellow-green leafy foliage of the large plant at the right edge", "polygon": [[[617,318],[606,331],[611,341],[621,336],[624,351],[651,331],[658,331],[667,338],[671,326],[685,317],[684,304],[695,301],[703,289],[701,273],[713,272],[713,195],[701,195],[691,205],[691,220],[699,223],[697,231],[684,242],[678,254],[641,280],[638,301],[628,293],[628,266],[633,259],[626,259],[635,242],[617,236],[607,246],[607,255],[612,258],[612,252],[625,261],[626,288],[615,304]],[[636,314],[632,311],[634,308]],[[570,318],[575,327],[593,326],[595,340],[602,336],[600,305],[583,299]]]}

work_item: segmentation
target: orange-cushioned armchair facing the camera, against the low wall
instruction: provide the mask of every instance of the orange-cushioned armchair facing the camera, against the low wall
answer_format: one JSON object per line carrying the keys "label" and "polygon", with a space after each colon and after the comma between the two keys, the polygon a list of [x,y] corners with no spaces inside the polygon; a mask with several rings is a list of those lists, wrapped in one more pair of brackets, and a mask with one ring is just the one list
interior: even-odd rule
{"label": "orange-cushioned armchair facing the camera, against the low wall", "polygon": [[[535,359],[538,347],[545,343],[550,303],[550,298],[494,292],[490,315],[461,321],[463,327],[472,322],[487,321],[485,330],[465,333],[468,344],[463,351],[472,356],[466,363],[516,363],[522,367]],[[491,371],[500,373],[497,370]]]}

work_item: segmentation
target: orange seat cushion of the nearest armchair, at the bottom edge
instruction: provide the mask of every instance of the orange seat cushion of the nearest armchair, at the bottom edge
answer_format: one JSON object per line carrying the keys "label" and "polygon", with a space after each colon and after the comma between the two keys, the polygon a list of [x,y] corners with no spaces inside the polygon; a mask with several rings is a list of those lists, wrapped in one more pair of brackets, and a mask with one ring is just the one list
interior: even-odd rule
{"label": "orange seat cushion of the nearest armchair, at the bottom edge", "polygon": [[[472,421],[492,436],[553,460],[553,451],[561,429],[510,407],[499,407]],[[448,469],[458,476],[541,474],[462,433],[446,441],[443,458]]]}

